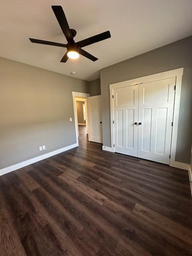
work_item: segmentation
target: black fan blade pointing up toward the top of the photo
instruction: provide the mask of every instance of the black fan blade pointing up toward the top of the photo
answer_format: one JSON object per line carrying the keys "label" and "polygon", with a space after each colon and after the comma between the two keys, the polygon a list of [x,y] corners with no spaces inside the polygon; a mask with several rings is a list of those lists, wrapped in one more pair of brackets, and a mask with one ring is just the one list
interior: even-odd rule
{"label": "black fan blade pointing up toward the top of the photo", "polygon": [[66,16],[64,14],[63,8],[60,5],[52,5],[52,9],[54,11],[54,14],[59,22],[59,25],[67,39],[67,42],[73,42],[73,36],[71,33],[71,30],[69,28]]}

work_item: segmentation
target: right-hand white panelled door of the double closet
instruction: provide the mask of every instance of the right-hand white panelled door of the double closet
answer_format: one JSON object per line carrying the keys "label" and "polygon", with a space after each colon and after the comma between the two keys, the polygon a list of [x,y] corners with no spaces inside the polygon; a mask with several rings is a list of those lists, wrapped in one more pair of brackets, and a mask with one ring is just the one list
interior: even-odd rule
{"label": "right-hand white panelled door of the double closet", "polygon": [[176,78],[139,85],[138,157],[170,163]]}

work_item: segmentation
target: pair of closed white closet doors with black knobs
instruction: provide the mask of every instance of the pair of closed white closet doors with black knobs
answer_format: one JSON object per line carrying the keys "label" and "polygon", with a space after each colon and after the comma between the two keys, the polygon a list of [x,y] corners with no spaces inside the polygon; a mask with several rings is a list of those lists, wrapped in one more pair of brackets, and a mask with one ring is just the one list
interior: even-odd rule
{"label": "pair of closed white closet doors with black knobs", "polygon": [[169,164],[176,78],[114,89],[115,152]]}

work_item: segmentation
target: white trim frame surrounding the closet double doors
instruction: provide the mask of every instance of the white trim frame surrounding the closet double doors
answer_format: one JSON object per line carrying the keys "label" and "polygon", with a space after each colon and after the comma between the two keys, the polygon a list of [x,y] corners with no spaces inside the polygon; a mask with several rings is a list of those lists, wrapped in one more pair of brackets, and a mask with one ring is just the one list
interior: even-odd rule
{"label": "white trim frame surrounding the closet double doors", "polygon": [[176,77],[176,90],[175,90],[175,100],[174,100],[174,114],[173,114],[173,128],[172,128],[172,140],[171,140],[171,152],[170,152],[170,166],[185,169],[184,163],[178,163],[175,161],[176,156],[176,144],[177,144],[177,132],[178,132],[178,119],[179,119],[179,106],[180,106],[180,94],[181,94],[181,84],[182,75],[184,68],[177,68],[174,70],[169,70],[161,72],[158,74],[152,74],[150,76],[143,76],[140,78],[135,78],[123,82],[118,82],[116,84],[110,84],[110,124],[111,124],[111,149],[110,152],[114,152],[114,113],[113,113],[113,90],[116,88],[122,88],[126,86],[132,86],[136,84],[154,82],[158,80],[163,80],[167,78]]}

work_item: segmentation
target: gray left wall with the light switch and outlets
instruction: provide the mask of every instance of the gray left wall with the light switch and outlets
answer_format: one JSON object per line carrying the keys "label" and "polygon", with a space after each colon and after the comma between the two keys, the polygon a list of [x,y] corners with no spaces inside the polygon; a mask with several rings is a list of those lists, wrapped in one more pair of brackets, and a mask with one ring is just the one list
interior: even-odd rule
{"label": "gray left wall with the light switch and outlets", "polygon": [[76,143],[72,91],[88,82],[0,58],[0,169]]}

